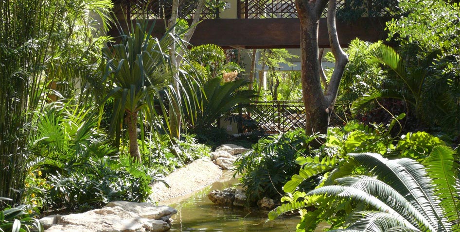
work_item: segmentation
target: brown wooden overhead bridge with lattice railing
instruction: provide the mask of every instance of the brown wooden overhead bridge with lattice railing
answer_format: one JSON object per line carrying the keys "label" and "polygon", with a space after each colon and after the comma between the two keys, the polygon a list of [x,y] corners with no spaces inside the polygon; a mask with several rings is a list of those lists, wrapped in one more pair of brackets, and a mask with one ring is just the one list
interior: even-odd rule
{"label": "brown wooden overhead bridge with lattice railing", "polygon": [[[228,48],[268,49],[300,48],[300,21],[297,18],[294,0],[226,0],[234,4],[230,13],[206,7],[190,41],[192,45],[216,44]],[[169,17],[171,0],[154,0],[146,7],[144,0],[118,0],[115,12],[119,18],[135,20],[141,16],[157,19],[154,34],[161,36],[164,16]],[[191,20],[196,0],[185,0],[179,7],[179,17]],[[347,5],[348,4],[348,5]],[[339,0],[338,8],[350,8],[350,0]],[[361,8],[361,17],[353,20],[337,20],[337,31],[342,47],[358,37],[365,41],[385,40],[386,21],[397,11],[397,0],[386,1],[386,6],[373,5],[372,0]],[[379,3],[382,4],[382,3]],[[236,8],[236,9],[235,9]],[[340,11],[339,11],[340,12]],[[225,14],[224,14],[225,13]],[[365,16],[365,17],[362,17]],[[124,20],[120,20],[123,22]],[[114,34],[113,34],[114,35]],[[326,19],[319,22],[318,43],[320,48],[329,48]]]}

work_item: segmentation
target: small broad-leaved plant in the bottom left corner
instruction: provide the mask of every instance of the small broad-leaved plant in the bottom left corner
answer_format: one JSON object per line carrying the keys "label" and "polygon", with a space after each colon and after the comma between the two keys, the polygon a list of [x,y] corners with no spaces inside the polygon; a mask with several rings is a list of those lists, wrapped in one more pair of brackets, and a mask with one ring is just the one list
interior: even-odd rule
{"label": "small broad-leaved plant in the bottom left corner", "polygon": [[[12,200],[0,198],[2,200]],[[0,231],[1,232],[28,232],[44,231],[38,219],[34,218],[37,214],[32,213],[27,205],[19,205],[14,208],[6,207],[0,211]]]}

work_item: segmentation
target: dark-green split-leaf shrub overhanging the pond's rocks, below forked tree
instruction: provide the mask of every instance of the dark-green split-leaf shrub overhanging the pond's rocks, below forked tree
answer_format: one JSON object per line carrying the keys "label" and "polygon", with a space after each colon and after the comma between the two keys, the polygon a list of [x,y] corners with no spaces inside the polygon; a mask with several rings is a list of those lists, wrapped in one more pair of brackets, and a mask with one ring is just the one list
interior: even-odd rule
{"label": "dark-green split-leaf shrub overhanging the pond's rocks, below forked tree", "polygon": [[242,175],[249,203],[263,197],[280,198],[283,184],[300,169],[296,158],[309,154],[312,140],[313,136],[298,129],[263,138],[243,154],[236,162],[236,171]]}

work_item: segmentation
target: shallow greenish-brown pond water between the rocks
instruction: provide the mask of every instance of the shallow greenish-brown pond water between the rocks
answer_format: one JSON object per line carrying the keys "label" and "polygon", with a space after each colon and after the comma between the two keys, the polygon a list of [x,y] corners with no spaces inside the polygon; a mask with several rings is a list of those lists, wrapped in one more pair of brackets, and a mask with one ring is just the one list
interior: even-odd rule
{"label": "shallow greenish-brown pond water between the rocks", "polygon": [[[233,186],[238,181],[226,172],[219,182],[215,182],[192,195],[171,199],[166,204],[177,209],[173,216],[172,232],[295,232],[299,216],[279,218],[265,223],[267,212],[254,212],[235,207],[217,206],[207,194]],[[318,230],[320,231],[320,230]]]}

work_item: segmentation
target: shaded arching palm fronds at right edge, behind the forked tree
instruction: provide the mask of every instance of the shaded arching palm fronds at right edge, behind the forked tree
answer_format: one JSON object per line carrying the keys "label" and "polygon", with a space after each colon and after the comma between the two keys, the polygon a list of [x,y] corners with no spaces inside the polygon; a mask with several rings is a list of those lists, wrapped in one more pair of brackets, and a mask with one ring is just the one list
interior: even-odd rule
{"label": "shaded arching palm fronds at right edge, behind the forked tree", "polygon": [[368,62],[389,67],[395,76],[388,76],[382,89],[372,89],[356,99],[352,111],[362,110],[374,100],[400,99],[415,110],[416,117],[426,126],[445,127],[447,124],[452,125],[452,122],[458,123],[458,93],[449,91],[451,84],[442,81],[446,75],[439,76],[439,72],[433,67],[437,55],[438,52],[435,51],[420,61],[418,66],[407,67],[406,61],[394,49],[383,44],[374,46]]}

